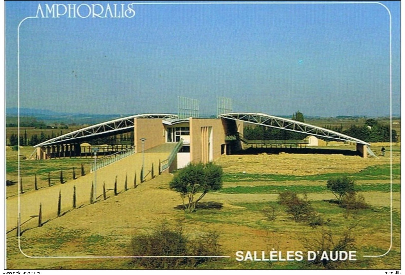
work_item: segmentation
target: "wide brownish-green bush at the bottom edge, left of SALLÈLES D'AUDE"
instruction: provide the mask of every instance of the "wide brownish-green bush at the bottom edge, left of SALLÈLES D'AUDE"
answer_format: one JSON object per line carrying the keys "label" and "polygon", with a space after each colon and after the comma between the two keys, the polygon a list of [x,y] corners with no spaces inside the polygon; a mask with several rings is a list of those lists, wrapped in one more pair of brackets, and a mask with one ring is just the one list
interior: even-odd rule
{"label": "wide brownish-green bush at the bottom edge, left of SALL\u00c8LES D'AUDE", "polygon": [[134,258],[133,264],[146,269],[175,269],[194,267],[215,258],[186,258],[181,256],[220,255],[218,233],[208,232],[190,239],[182,228],[170,229],[166,224],[159,226],[151,234],[132,237],[130,252],[132,256],[180,256],[167,258]]}

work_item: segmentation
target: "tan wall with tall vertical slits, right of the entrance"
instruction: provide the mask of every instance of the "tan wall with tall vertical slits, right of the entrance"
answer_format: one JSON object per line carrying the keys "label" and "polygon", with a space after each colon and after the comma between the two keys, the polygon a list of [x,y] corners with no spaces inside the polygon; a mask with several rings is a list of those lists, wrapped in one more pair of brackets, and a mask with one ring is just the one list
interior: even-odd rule
{"label": "tan wall with tall vertical slits, right of the entrance", "polygon": [[222,120],[218,118],[190,118],[190,161],[199,163],[202,158],[201,127],[212,127],[212,157],[220,157],[221,145],[225,144],[225,131]]}

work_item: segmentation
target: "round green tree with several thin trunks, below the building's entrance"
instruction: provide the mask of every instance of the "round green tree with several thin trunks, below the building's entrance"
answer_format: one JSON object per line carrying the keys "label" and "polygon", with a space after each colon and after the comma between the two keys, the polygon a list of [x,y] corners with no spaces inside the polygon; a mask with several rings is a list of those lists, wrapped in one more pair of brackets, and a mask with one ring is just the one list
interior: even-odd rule
{"label": "round green tree with several thin trunks, below the building's entrance", "polygon": [[[192,212],[205,194],[222,188],[222,168],[213,163],[190,163],[175,175],[170,182],[170,188],[180,193],[184,208]],[[200,196],[195,200],[197,193],[200,193]],[[188,204],[185,204],[185,198]]]}

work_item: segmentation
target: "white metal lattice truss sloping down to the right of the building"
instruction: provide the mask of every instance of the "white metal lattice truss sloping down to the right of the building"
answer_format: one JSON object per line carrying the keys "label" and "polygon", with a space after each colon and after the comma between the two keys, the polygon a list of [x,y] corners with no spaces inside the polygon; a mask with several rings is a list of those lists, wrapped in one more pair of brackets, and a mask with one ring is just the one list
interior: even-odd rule
{"label": "white metal lattice truss sloping down to the right of the building", "polygon": [[364,142],[362,140],[358,140],[357,138],[352,138],[349,135],[345,135],[336,131],[332,131],[330,129],[310,125],[304,122],[291,120],[288,118],[280,118],[278,116],[271,116],[268,114],[261,114],[261,113],[228,113],[228,114],[220,114],[219,117],[221,118],[229,118],[233,120],[241,120],[246,121],[249,123],[263,125],[267,127],[273,127],[288,131],[294,131],[298,133],[306,133],[308,135],[316,135],[322,138],[330,138],[334,140],[341,140],[345,142],[356,142],[364,145],[370,146],[369,143]]}

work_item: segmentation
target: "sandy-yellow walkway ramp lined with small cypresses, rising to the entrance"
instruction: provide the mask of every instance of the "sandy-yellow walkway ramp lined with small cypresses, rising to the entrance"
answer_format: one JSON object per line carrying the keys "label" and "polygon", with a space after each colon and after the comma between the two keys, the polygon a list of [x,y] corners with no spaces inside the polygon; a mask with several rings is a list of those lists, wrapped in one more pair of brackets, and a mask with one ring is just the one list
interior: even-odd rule
{"label": "sandy-yellow walkway ramp lined with small cypresses, rising to the entrance", "polygon": [[[149,150],[145,150],[145,170],[153,170],[155,176],[158,175],[158,163],[168,158],[176,144],[162,144]],[[52,161],[52,160],[49,160]],[[97,170],[97,199],[102,200],[103,182],[105,182],[107,196],[114,196],[114,182],[117,176],[117,191],[124,190],[125,177],[128,176],[128,188],[134,188],[134,175],[136,172],[136,184],[140,184],[140,171],[142,166],[142,153],[136,153],[125,159],[119,160],[109,166]],[[21,168],[23,169],[23,168]],[[151,178],[149,172],[144,173],[146,180]],[[76,187],[76,207],[90,204],[90,192],[94,181],[94,173],[81,176],[76,180],[69,180],[64,184],[56,184],[51,187],[30,191],[6,200],[7,207],[7,231],[17,226],[18,217],[18,198],[20,198],[21,223],[29,220],[32,215],[38,215],[39,205],[42,204],[42,221],[57,217],[58,213],[58,196],[61,192],[61,213],[72,210],[73,186]],[[26,224],[21,226],[21,230],[35,226],[38,223],[38,217],[32,218]],[[15,232],[15,231],[13,231]],[[11,234],[11,233],[10,233]]]}

